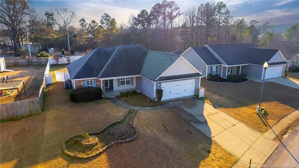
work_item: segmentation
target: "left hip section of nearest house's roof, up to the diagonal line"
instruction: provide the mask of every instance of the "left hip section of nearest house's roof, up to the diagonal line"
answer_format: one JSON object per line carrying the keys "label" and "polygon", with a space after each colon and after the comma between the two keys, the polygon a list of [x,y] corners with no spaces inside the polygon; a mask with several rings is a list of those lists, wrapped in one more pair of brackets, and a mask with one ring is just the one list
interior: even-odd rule
{"label": "left hip section of nearest house's roof, up to the diagonal line", "polygon": [[97,77],[116,47],[101,47],[92,50],[80,59],[67,65],[71,79]]}

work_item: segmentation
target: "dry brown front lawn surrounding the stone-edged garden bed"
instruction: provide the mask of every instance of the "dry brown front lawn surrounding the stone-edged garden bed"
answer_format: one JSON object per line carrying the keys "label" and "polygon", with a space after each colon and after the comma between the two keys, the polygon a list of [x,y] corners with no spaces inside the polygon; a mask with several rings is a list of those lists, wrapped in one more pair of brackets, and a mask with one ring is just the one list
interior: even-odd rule
{"label": "dry brown front lawn surrounding the stone-edged garden bed", "polygon": [[[1,125],[0,167],[231,167],[236,161],[216,142],[171,109],[139,111],[133,119],[139,136],[102,155],[74,159],[62,152],[62,141],[94,132],[119,120],[127,109],[109,100],[72,103],[63,83],[50,85],[44,112]],[[210,151],[208,153],[207,151]]]}

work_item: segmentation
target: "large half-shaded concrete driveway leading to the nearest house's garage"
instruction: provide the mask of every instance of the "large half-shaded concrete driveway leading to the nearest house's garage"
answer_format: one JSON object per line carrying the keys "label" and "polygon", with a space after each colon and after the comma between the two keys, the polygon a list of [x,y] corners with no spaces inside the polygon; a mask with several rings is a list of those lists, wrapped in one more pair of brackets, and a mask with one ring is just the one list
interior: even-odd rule
{"label": "large half-shaded concrete driveway leading to the nearest house's garage", "polygon": [[166,105],[239,157],[234,167],[248,167],[250,159],[251,165],[263,165],[278,146],[270,138],[195,97],[167,101]]}

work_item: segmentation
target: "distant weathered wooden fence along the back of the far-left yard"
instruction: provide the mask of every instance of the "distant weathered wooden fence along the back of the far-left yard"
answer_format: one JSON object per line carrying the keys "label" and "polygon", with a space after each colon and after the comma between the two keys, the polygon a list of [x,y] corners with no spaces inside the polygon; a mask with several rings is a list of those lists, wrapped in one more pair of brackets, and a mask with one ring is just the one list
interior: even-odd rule
{"label": "distant weathered wooden fence along the back of the far-left yard", "polygon": [[22,65],[47,65],[48,58],[18,58],[4,59],[6,66],[22,66]]}

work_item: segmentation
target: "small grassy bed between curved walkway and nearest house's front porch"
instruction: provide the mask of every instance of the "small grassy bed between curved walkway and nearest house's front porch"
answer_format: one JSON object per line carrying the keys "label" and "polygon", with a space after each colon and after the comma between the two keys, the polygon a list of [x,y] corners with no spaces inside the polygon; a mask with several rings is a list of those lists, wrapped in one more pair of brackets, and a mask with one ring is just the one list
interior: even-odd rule
{"label": "small grassy bed between curved walkway and nearest house's front porch", "polygon": [[134,94],[129,97],[120,97],[120,99],[122,99],[124,102],[128,104],[139,107],[159,106],[162,104],[157,101],[154,102],[151,98],[147,97],[142,93]]}

